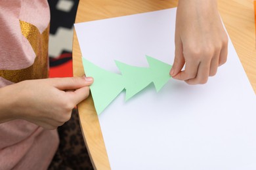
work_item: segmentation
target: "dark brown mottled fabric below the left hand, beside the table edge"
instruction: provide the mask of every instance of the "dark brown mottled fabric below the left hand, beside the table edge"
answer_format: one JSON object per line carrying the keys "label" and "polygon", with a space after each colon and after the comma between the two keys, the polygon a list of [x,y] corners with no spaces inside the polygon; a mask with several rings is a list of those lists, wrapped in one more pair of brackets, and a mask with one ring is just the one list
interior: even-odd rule
{"label": "dark brown mottled fabric below the left hand, beside the table edge", "polygon": [[72,112],[71,119],[58,127],[60,145],[49,170],[93,169],[85,146],[77,110]]}

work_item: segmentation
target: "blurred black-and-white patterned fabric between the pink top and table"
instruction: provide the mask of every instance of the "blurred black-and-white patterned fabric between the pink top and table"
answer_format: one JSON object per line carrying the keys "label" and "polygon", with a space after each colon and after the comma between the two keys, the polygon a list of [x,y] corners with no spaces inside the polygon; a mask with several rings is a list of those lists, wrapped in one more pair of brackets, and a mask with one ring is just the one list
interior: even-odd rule
{"label": "blurred black-and-white patterned fabric between the pink top and table", "polygon": [[[50,67],[72,59],[72,41],[78,0],[49,0],[51,27],[49,37]],[[64,54],[64,55],[63,55]],[[70,56],[63,58],[63,56]],[[56,60],[58,62],[56,62]],[[58,65],[56,65],[58,63]]]}

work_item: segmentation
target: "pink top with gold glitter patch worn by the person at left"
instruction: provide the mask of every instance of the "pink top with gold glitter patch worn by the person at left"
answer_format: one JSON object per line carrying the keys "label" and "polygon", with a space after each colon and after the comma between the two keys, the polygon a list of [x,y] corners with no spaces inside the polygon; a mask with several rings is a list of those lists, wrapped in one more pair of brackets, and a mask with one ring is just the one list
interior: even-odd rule
{"label": "pink top with gold glitter patch worn by the person at left", "polygon": [[[48,76],[49,21],[47,0],[0,1],[0,88]],[[57,147],[56,130],[0,124],[0,169],[47,169]]]}

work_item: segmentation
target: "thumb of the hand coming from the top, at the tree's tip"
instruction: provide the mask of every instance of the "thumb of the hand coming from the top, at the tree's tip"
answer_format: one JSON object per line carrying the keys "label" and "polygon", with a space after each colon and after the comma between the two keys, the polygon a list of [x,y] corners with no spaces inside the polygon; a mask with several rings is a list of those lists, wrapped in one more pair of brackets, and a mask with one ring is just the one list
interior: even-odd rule
{"label": "thumb of the hand coming from the top, at the tree's tip", "polygon": [[179,41],[175,43],[175,58],[173,61],[173,67],[171,67],[170,75],[175,76],[178,73],[180,73],[184,64],[185,64],[185,59],[183,56],[182,42]]}

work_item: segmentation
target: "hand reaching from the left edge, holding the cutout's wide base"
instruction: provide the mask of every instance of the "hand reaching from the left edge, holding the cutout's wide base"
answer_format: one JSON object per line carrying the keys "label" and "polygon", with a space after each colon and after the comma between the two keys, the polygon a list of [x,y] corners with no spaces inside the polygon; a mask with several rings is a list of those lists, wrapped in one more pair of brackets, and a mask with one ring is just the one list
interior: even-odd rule
{"label": "hand reaching from the left edge, holding the cutout's wide base", "polygon": [[6,86],[0,91],[9,106],[4,110],[9,114],[5,120],[19,118],[55,129],[70,120],[72,109],[88,97],[92,83],[93,78],[74,77],[26,80]]}

